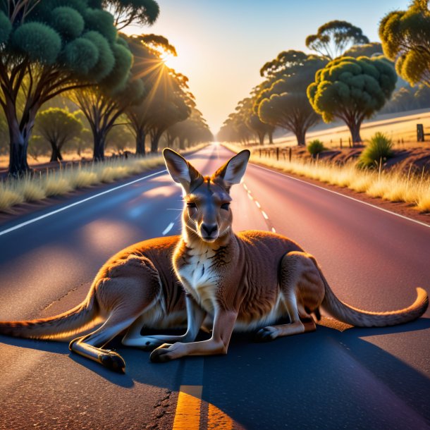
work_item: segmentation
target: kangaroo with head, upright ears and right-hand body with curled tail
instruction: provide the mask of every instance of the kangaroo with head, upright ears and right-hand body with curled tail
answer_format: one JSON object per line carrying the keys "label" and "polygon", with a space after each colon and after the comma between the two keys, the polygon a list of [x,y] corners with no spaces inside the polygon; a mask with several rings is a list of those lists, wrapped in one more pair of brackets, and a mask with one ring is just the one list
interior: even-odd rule
{"label": "kangaroo with head, upright ears and right-hand body with curled tail", "polygon": [[[240,183],[250,152],[233,156],[212,176],[202,176],[182,156],[164,149],[173,180],[183,188],[182,235],[173,267],[189,297],[189,327],[207,316],[209,340],[165,343],[152,362],[186,355],[226,354],[233,329],[254,331],[260,341],[314,331],[319,308],[353,326],[393,326],[417,319],[429,298],[417,288],[417,300],[393,312],[367,312],[338,300],[312,255],[292,240],[266,231],[232,231],[231,186]],[[197,309],[200,309],[199,312]],[[289,324],[276,324],[280,317]]]}

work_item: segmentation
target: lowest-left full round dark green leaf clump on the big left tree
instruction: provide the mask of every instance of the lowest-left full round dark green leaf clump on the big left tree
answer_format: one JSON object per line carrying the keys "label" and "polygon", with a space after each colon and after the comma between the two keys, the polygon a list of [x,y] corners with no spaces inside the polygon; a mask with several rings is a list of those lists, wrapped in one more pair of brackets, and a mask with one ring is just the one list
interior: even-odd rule
{"label": "lowest-left full round dark green leaf clump on the big left tree", "polygon": [[53,64],[61,50],[61,37],[53,28],[42,23],[20,25],[12,33],[15,49],[30,61]]}

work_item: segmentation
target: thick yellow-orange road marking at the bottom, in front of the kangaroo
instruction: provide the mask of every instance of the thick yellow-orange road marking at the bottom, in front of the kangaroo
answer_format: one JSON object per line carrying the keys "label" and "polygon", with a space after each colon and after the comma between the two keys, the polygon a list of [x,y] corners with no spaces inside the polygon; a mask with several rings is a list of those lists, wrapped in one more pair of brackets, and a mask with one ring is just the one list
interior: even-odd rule
{"label": "thick yellow-orange road marking at the bottom, in front of the kangaroo", "polygon": [[173,430],[199,430],[202,390],[201,385],[180,386]]}

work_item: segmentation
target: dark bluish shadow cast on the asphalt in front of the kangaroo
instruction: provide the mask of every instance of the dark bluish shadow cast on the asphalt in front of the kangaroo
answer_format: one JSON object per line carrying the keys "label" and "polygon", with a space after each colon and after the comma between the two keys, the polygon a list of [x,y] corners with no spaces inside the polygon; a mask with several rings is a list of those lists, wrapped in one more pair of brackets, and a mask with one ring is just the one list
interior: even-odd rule
{"label": "dark bluish shadow cast on the asphalt in front of the kangaroo", "polygon": [[[252,333],[234,333],[225,356],[204,358],[204,403],[216,406],[245,428],[427,428],[430,424],[430,379],[366,338],[407,336],[413,348],[429,345],[430,319],[388,328],[349,328],[340,332],[318,326],[314,333],[253,343]],[[206,333],[199,337],[207,338]],[[0,336],[0,343],[20,348],[69,354],[107,381],[123,388],[135,383],[178,391],[199,357],[165,364],[149,362],[149,352],[126,348],[121,338],[108,348],[118,350],[126,374],[114,374],[68,350],[67,343]],[[200,361],[199,361],[200,360]],[[422,367],[422,366],[421,366]],[[188,371],[189,373],[189,371]],[[197,372],[199,373],[199,372]],[[188,385],[202,385],[201,374]],[[358,421],[357,421],[358,419]]]}

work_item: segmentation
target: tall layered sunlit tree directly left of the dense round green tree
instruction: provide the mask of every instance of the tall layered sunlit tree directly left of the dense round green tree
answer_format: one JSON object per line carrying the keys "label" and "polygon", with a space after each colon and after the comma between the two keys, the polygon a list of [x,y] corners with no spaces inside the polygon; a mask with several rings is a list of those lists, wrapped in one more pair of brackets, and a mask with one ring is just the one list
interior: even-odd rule
{"label": "tall layered sunlit tree directly left of the dense round green tree", "polygon": [[307,130],[320,120],[309,104],[306,90],[325,64],[321,57],[301,51],[281,52],[266,63],[260,73],[270,78],[271,85],[257,97],[259,119],[290,130],[297,137],[297,145],[305,145]]}

